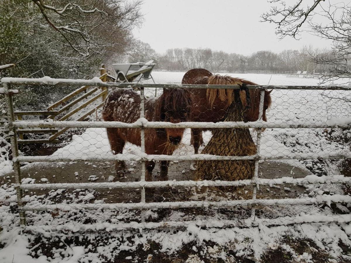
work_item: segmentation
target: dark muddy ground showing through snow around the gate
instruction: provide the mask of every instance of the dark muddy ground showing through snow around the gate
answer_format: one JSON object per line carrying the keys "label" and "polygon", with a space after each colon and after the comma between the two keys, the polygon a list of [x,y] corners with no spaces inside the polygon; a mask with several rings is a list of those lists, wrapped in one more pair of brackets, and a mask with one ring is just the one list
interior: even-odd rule
{"label": "dark muddy ground showing through snow around the gate", "polygon": [[[194,171],[191,169],[191,162],[181,161],[172,162],[169,168],[169,180],[192,180]],[[22,167],[22,178],[35,179],[35,183],[75,183],[75,182],[106,182],[108,177],[114,175],[113,173],[114,164],[113,162],[66,162],[66,163],[32,163]],[[130,182],[140,180],[140,162],[130,163],[128,166],[129,171],[122,178],[115,177],[114,181]],[[287,163],[264,161],[259,163],[259,177],[261,178],[279,178],[283,176],[292,176],[294,178],[302,178],[310,174],[309,171],[303,170],[298,167],[293,167]],[[153,173],[153,181],[158,180],[159,166],[156,165]],[[93,180],[93,181],[92,181]],[[1,178],[0,183],[13,183],[14,173],[8,174]],[[261,186],[257,190],[257,198],[293,198],[299,197],[306,193],[306,188],[302,186],[294,186],[291,184],[283,184],[279,186]],[[66,190],[71,191],[71,190]],[[233,199],[252,198],[252,186],[240,187],[240,188],[221,188],[213,189],[217,196],[223,195],[228,197],[226,194],[228,191],[236,192],[236,195],[231,195]],[[200,191],[201,192],[201,191]],[[26,191],[25,195],[44,195],[47,194],[48,190],[36,190]],[[154,189],[151,193],[147,193],[147,202],[156,201],[181,201],[181,200],[194,200],[194,190],[190,188],[159,188]],[[208,196],[207,196],[208,197]],[[51,201],[62,202],[61,198],[64,195],[58,195],[57,198],[51,199]],[[94,193],[94,200],[104,200],[105,203],[119,203],[119,202],[139,202],[140,201],[140,189],[99,189]],[[90,202],[94,202],[91,200]],[[208,200],[208,199],[207,199]],[[240,208],[240,216],[249,217],[251,208]],[[158,211],[158,217],[151,221],[162,221],[167,220],[170,215],[170,209],[163,209],[164,212]],[[173,209],[175,210],[175,209]],[[218,208],[213,211],[206,209],[178,209],[179,213],[189,213],[196,215],[206,215],[206,213],[217,213],[223,217],[236,216],[239,210]],[[256,209],[256,214],[260,217],[275,217],[281,215],[270,215],[273,210],[267,210],[267,208]],[[296,211],[295,211],[296,212]],[[295,214],[295,212],[293,212]],[[46,212],[44,212],[46,213]],[[135,216],[139,217],[138,212],[135,212]],[[206,215],[208,216],[208,215]],[[210,215],[211,216],[211,215]],[[239,214],[237,214],[239,216]],[[137,220],[138,221],[138,220]],[[30,220],[29,224],[34,224],[35,221]],[[94,221],[87,221],[85,223],[94,223]],[[133,231],[136,231],[133,234]],[[172,230],[171,230],[172,232]],[[28,232],[28,234],[30,234]],[[131,230],[130,234],[132,237],[138,235],[138,230]],[[139,233],[140,234],[140,233]],[[40,255],[46,255],[48,257],[53,256],[53,249],[58,249],[62,246],[62,237],[41,235],[39,233],[31,233],[35,237],[35,240],[29,247],[32,248],[32,256],[39,257]],[[69,236],[69,235],[68,235]],[[65,245],[69,246],[83,246],[88,249],[89,252],[97,253],[98,247],[101,245],[108,245],[111,242],[111,233],[107,231],[100,231],[98,235],[95,235],[95,242],[91,242],[90,234],[83,232],[71,233],[71,236],[64,240]],[[190,242],[185,243],[184,246],[177,251],[176,254],[169,255],[162,251],[162,245],[156,242],[150,241],[147,248],[145,245],[138,245],[133,252],[121,251],[113,259],[105,259],[106,262],[163,262],[163,263],[201,263],[201,262],[296,262],[296,256],[304,255],[304,253],[311,255],[309,261],[301,260],[300,262],[349,262],[349,256],[351,255],[351,247],[339,242],[339,247],[342,249],[341,256],[339,258],[333,258],[326,250],[321,250],[316,243],[312,240],[305,238],[291,238],[286,236],[282,238],[281,244],[276,245],[274,248],[269,248],[264,251],[257,261],[254,258],[253,252],[251,253],[250,240],[247,240],[247,253],[241,256],[236,251],[236,241],[227,243],[225,247],[220,246],[211,241],[203,242]],[[39,245],[38,244],[43,244]],[[1,245],[1,244],[0,244]],[[292,248],[293,252],[287,250],[287,246]],[[116,248],[117,249],[117,248]],[[204,253],[204,251],[207,251]],[[226,260],[220,258],[221,251],[226,252]],[[250,254],[251,253],[251,254]],[[150,257],[152,255],[152,257]],[[101,255],[100,259],[104,260],[104,256]]]}

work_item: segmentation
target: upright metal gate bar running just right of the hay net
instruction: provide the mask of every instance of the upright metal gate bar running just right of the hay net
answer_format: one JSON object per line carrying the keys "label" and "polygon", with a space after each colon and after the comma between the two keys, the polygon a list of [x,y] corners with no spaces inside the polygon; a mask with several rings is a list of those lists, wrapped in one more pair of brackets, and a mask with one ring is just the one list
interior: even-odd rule
{"label": "upright metal gate bar running just right of the hay net", "polygon": [[[264,89],[262,89],[261,95],[260,95],[260,106],[259,106],[258,120],[261,120],[263,117],[264,95],[265,95],[265,91],[264,91]],[[253,178],[252,178],[252,181],[254,183],[256,183],[256,181],[258,179],[258,161],[260,160],[261,133],[262,133],[262,130],[259,128],[257,130],[257,140],[256,140],[256,155],[258,156],[258,158],[255,160],[255,168],[254,168],[254,174],[253,174]],[[252,200],[256,200],[257,187],[258,187],[258,184],[254,184],[252,186]],[[255,206],[253,205],[252,209],[251,209],[251,219],[255,220],[255,218],[256,218]]]}

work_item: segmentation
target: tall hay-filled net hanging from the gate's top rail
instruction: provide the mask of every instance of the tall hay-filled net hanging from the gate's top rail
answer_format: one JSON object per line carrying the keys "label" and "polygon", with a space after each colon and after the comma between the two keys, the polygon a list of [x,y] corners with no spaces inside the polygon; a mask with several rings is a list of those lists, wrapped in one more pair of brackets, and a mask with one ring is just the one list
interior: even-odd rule
{"label": "tall hay-filled net hanging from the gate's top rail", "polygon": [[[239,92],[225,115],[225,121],[243,121],[243,106]],[[212,138],[201,154],[244,156],[256,153],[249,129],[213,129]],[[254,161],[198,161],[195,180],[243,180],[253,176]]]}

